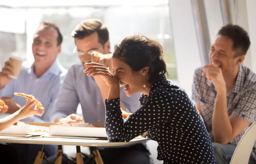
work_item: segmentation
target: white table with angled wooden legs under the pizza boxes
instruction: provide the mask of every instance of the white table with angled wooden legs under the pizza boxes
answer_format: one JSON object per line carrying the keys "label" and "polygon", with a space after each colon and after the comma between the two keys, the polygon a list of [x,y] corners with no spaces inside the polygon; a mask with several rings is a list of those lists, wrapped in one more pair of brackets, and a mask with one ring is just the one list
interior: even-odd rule
{"label": "white table with angled wooden legs under the pizza boxes", "polygon": [[[134,138],[129,142],[109,142],[108,140],[87,140],[87,139],[75,139],[75,138],[54,138],[54,137],[16,137],[16,136],[0,136],[0,142],[5,143],[17,143],[17,144],[41,144],[41,145],[74,145],[74,146],[86,146],[86,147],[116,147],[125,146],[131,144],[137,144],[150,140],[149,138]],[[59,150],[57,153],[59,154]],[[103,164],[101,156],[98,150],[95,150],[94,156],[97,164]],[[44,157],[43,152],[39,152],[34,164],[41,164]],[[77,152],[77,164],[82,164],[82,154]],[[61,163],[61,157],[56,160],[55,164]],[[98,162],[97,162],[98,161]]]}

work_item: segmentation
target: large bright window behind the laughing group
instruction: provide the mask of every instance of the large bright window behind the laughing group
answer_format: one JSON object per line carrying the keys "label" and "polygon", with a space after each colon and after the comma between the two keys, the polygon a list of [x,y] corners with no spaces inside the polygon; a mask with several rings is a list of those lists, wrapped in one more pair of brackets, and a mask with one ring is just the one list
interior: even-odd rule
{"label": "large bright window behind the laughing group", "polygon": [[[20,9],[15,8],[5,8],[5,11],[16,12],[16,14],[21,12]],[[71,37],[71,31],[81,20],[95,18],[102,20],[108,26],[112,50],[115,43],[134,33],[146,35],[160,42],[164,48],[168,63],[169,79],[177,81],[172,26],[167,4],[158,6],[49,7],[23,9],[24,11],[26,12],[24,34],[15,34],[12,31],[6,32],[6,30],[5,32],[0,32],[0,42],[1,40],[8,40],[8,46],[0,44],[0,53],[26,52],[28,60],[33,61],[30,49],[34,31],[40,22],[50,21],[60,27],[64,36],[62,50],[58,58],[61,64],[68,69],[74,63],[79,62],[78,56],[72,52],[75,48],[75,43],[74,38]],[[0,28],[0,31],[3,30]],[[2,36],[5,36],[5,38],[3,39]],[[17,48],[17,45],[22,46]]]}

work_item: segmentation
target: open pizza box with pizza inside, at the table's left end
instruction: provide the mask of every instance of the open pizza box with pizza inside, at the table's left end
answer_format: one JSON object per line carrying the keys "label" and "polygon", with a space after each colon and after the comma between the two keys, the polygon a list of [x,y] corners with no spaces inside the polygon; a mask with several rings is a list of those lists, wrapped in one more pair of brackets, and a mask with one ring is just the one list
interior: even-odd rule
{"label": "open pizza box with pizza inside, at the table's left end", "polygon": [[59,123],[37,123],[37,122],[16,122],[14,125],[3,130],[2,136],[32,137],[49,134],[49,126]]}

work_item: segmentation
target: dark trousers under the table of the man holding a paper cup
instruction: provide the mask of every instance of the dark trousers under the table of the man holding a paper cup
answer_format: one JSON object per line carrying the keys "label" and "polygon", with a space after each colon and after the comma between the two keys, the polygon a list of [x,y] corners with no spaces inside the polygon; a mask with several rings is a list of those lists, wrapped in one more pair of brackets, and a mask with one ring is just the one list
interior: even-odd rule
{"label": "dark trousers under the table of the man holding a paper cup", "polygon": [[[7,144],[18,152],[19,161],[22,164],[34,164],[35,158],[43,145],[37,144]],[[44,153],[46,157],[56,154],[57,145],[45,145]]]}

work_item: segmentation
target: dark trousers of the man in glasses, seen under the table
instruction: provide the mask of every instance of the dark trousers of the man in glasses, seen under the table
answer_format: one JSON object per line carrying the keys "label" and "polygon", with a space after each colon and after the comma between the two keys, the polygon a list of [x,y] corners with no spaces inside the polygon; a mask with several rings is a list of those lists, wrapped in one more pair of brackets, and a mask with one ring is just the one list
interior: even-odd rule
{"label": "dark trousers of the man in glasses, seen under the table", "polygon": [[[83,153],[83,152],[82,152]],[[150,153],[143,144],[136,144],[124,148],[106,148],[99,150],[104,164],[153,164],[150,158]],[[76,152],[65,154],[71,160],[75,160]],[[50,164],[54,164],[56,156],[49,157],[47,160]],[[83,155],[83,161],[88,159]],[[69,161],[62,157],[62,164],[69,164]],[[94,164],[94,161],[89,161],[88,164]]]}

